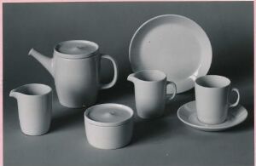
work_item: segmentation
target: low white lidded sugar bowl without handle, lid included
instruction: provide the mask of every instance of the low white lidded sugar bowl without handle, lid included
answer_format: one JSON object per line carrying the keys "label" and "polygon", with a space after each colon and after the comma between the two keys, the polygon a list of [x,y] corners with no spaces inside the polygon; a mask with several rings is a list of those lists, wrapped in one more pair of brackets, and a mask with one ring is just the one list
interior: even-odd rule
{"label": "low white lidded sugar bowl without handle, lid included", "polygon": [[84,112],[85,133],[91,146],[117,149],[131,141],[133,111],[119,104],[91,106]]}

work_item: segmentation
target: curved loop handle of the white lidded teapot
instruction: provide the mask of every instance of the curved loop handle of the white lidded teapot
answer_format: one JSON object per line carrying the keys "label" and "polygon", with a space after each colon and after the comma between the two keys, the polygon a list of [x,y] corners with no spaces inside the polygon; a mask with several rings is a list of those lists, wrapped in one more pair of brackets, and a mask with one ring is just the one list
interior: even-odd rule
{"label": "curved loop handle of the white lidded teapot", "polygon": [[111,63],[113,64],[113,80],[110,83],[102,84],[102,87],[101,87],[101,89],[110,89],[111,87],[113,87],[113,85],[116,83],[118,79],[118,74],[119,74],[118,66],[115,60],[108,54],[102,54],[102,59],[110,60]]}

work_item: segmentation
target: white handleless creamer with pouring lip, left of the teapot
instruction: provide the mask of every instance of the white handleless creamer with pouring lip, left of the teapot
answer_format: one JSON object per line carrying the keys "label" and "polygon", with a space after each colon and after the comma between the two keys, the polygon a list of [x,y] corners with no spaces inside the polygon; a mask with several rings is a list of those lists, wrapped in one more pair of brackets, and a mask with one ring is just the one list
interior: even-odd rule
{"label": "white handleless creamer with pouring lip, left of the teapot", "polygon": [[52,90],[49,86],[31,83],[10,91],[18,101],[20,128],[25,135],[48,132],[52,112]]}

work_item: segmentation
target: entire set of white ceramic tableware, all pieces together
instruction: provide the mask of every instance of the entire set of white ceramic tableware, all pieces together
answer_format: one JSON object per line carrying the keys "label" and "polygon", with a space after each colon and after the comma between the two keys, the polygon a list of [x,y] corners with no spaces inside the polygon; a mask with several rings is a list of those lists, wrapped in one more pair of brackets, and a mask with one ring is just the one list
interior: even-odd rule
{"label": "entire set of white ceramic tableware, all pieces together", "polygon": [[[35,49],[29,54],[54,77],[62,106],[87,108],[84,125],[91,146],[117,149],[131,141],[134,112],[130,107],[113,103],[93,106],[98,91],[113,87],[118,78],[115,60],[108,54],[101,54],[98,44],[71,40],[58,43],[53,58]],[[113,80],[107,84],[99,82],[102,59],[113,64]],[[166,103],[195,86],[195,101],[177,111],[183,123],[195,129],[218,131],[246,119],[247,110],[239,105],[239,91],[231,88],[230,79],[207,75],[212,63],[212,46],[195,21],[176,14],[146,21],[131,38],[129,59],[134,73],[127,80],[134,83],[138,117],[162,116]],[[236,102],[232,104],[231,94],[236,94]],[[52,112],[49,86],[26,84],[11,90],[9,95],[18,101],[20,128],[24,134],[48,132]]]}

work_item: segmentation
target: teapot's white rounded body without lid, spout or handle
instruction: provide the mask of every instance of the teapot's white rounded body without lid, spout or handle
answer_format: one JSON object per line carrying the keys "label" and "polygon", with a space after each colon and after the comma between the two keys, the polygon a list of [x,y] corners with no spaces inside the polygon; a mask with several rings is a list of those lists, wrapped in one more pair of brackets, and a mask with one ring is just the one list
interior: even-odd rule
{"label": "teapot's white rounded body without lid, spout or handle", "polygon": [[96,103],[100,89],[100,55],[67,59],[54,53],[53,75],[61,105],[88,107]]}

